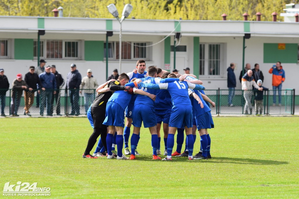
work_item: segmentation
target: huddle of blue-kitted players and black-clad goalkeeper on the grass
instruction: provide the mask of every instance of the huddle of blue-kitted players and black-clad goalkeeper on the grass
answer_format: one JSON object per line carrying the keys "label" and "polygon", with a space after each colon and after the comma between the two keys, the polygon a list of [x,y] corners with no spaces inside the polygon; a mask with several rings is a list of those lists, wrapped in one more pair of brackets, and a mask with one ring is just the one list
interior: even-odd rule
{"label": "huddle of blue-kitted players and black-clad goalkeeper on the grass", "polygon": [[[205,95],[202,81],[192,74],[174,74],[156,66],[149,66],[145,71],[144,60],[138,60],[136,68],[137,70],[122,73],[117,80],[111,79],[97,88],[98,95],[87,113],[94,131],[89,137],[83,158],[107,156],[108,159],[136,159],[136,155],[140,155],[137,146],[142,123],[144,128],[149,128],[151,134],[152,159],[161,159],[158,156],[161,155],[161,126],[166,155],[162,160],[172,160],[172,156],[188,157],[188,160],[211,158],[208,128],[214,128],[210,104],[214,107],[215,103]],[[133,134],[130,151],[131,125]],[[199,153],[193,156],[196,129],[199,131],[201,147]],[[181,153],[184,130],[186,143]],[[176,131],[177,148],[173,153]],[[99,136],[97,148],[91,155],[90,151]]]}

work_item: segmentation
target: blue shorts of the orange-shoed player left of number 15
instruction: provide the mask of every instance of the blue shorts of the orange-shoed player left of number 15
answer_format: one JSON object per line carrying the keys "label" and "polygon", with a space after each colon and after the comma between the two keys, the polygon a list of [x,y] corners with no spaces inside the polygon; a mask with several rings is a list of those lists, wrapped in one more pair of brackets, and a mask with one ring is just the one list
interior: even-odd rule
{"label": "blue shorts of the orange-shoed player left of number 15", "polygon": [[144,104],[135,104],[133,108],[133,122],[135,127],[141,127],[142,121],[144,128],[157,125],[155,107]]}

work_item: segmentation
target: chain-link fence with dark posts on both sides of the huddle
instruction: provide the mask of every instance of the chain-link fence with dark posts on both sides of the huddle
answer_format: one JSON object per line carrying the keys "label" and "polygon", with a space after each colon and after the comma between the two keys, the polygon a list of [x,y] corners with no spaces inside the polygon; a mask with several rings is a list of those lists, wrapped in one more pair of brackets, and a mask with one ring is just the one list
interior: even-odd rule
{"label": "chain-link fence with dark posts on both sides of the huddle", "polygon": [[[39,103],[36,103],[38,93]],[[295,89],[276,91],[276,95],[273,90],[263,91],[263,100],[259,102],[254,100],[253,92],[242,90],[205,90],[205,94],[216,103],[211,107],[212,114],[295,113]],[[54,90],[0,89],[1,116],[84,115],[95,97],[94,89],[60,89],[56,93]]]}

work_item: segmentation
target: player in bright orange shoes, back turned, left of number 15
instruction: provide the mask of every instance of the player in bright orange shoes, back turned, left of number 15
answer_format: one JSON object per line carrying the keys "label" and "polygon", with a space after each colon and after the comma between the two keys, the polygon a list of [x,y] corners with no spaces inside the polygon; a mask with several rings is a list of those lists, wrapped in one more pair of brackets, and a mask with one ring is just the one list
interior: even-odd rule
{"label": "player in bright orange shoes, back turned, left of number 15", "polygon": [[[153,84],[159,84],[164,82],[174,82],[174,81],[180,81],[179,78],[166,78],[161,79],[157,78],[157,72],[158,69],[155,66],[150,66],[147,69],[147,77],[141,78],[141,81],[144,83],[153,83]],[[181,78],[183,80],[183,78]],[[139,79],[135,80],[136,82],[139,81]],[[132,85],[133,82],[126,85]],[[133,86],[133,85],[132,85]],[[139,86],[139,89],[150,93],[150,94],[157,94],[156,90],[149,89],[149,88],[143,88]],[[135,88],[134,88],[135,90]],[[138,134],[140,133],[141,124],[143,122],[144,128],[149,128],[149,132],[152,135],[152,149],[153,149],[153,160],[161,159],[157,156],[157,148],[158,148],[158,135],[157,135],[157,120],[155,115],[155,103],[152,101],[149,97],[144,95],[137,95],[134,108],[133,108],[133,134],[131,137],[131,156],[130,159],[134,160],[135,157],[135,148],[137,146],[138,142]],[[146,111],[145,111],[146,110]]]}

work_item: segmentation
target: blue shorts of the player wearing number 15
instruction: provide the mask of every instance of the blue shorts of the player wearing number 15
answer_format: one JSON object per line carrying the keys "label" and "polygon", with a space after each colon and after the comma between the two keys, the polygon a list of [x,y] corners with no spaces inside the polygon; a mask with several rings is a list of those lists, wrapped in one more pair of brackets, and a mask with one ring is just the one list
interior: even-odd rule
{"label": "blue shorts of the player wearing number 15", "polygon": [[179,105],[171,109],[169,126],[192,128],[192,105]]}

